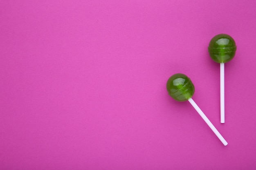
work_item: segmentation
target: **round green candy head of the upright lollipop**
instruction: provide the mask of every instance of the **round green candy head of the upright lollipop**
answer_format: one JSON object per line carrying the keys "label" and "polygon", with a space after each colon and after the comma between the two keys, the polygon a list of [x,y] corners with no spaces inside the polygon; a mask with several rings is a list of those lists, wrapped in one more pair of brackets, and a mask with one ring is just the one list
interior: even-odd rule
{"label": "round green candy head of the upright lollipop", "polygon": [[219,34],[211,39],[208,51],[212,60],[226,63],[232,60],[236,54],[236,42],[227,34]]}

